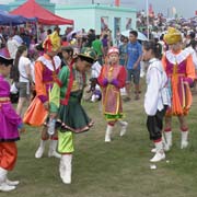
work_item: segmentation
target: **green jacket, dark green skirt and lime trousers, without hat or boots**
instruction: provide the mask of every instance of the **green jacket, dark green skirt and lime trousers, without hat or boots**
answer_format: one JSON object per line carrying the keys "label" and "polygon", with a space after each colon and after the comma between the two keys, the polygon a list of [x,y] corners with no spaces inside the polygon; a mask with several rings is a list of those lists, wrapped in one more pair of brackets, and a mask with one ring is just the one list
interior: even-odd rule
{"label": "green jacket, dark green skirt and lime trousers, without hat or boots", "polygon": [[72,132],[89,130],[93,121],[81,106],[85,74],[80,73],[72,63],[62,67],[58,79],[59,83],[50,93],[50,113],[57,113],[58,151],[68,153],[73,152]]}

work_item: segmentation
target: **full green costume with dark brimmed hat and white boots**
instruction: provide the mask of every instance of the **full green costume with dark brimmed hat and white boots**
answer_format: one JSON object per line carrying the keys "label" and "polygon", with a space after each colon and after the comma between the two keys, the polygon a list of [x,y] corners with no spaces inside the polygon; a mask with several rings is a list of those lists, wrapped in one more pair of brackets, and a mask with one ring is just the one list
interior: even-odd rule
{"label": "full green costume with dark brimmed hat and white boots", "polygon": [[[78,55],[78,58],[80,57],[85,57],[93,62],[95,53],[93,49],[84,48]],[[81,106],[86,79],[85,73],[78,71],[74,60],[69,66],[62,67],[58,80],[59,83],[54,85],[50,95],[50,113],[57,114],[58,151],[61,154],[60,177],[65,184],[70,184],[72,152],[74,151],[72,134],[89,130],[93,121]]]}

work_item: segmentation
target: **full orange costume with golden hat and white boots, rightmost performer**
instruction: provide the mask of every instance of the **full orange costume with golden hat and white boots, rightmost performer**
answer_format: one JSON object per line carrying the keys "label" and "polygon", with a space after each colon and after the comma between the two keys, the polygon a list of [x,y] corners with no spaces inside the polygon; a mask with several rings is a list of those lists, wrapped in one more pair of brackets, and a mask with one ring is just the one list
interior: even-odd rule
{"label": "full orange costume with golden hat and white boots, rightmost performer", "polygon": [[[164,35],[164,40],[167,45],[176,45],[182,42],[182,35],[178,31],[170,27]],[[179,50],[174,53],[169,50],[162,59],[164,70],[169,79],[169,89],[171,90],[172,106],[169,107],[166,116],[184,117],[188,114],[192,105],[192,93],[189,85],[193,84],[195,79],[195,66],[193,58],[187,50]],[[172,129],[165,128],[164,130],[166,144],[172,146]],[[182,143],[181,148],[186,148],[188,144],[188,128],[181,128]]]}

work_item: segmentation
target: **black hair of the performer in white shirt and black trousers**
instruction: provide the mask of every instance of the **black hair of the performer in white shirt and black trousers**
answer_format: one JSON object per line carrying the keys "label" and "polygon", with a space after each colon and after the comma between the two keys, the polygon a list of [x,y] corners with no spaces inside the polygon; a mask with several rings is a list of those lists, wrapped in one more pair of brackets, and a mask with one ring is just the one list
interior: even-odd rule
{"label": "black hair of the performer in white shirt and black trousers", "polygon": [[153,40],[144,42],[143,48],[146,50],[152,50],[152,54],[155,56],[155,58],[161,59],[162,58],[162,46],[159,43],[155,43]]}

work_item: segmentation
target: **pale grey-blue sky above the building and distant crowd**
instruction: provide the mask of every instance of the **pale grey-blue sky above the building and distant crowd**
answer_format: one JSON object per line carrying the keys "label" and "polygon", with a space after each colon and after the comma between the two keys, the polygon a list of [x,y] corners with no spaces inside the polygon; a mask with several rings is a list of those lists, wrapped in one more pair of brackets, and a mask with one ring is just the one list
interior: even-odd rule
{"label": "pale grey-blue sky above the building and distant crowd", "polygon": [[[0,3],[12,2],[13,0],[0,0]],[[93,1],[95,3],[105,3],[113,4],[114,0],[50,0],[56,3],[69,3],[69,4],[90,4]],[[137,10],[146,10],[146,1],[147,0],[120,0],[123,7],[130,7]],[[163,12],[170,16],[172,16],[172,8],[176,8],[176,12],[178,15],[183,15],[184,18],[192,18],[195,15],[195,11],[197,10],[197,0],[148,0],[149,3],[152,4],[153,10],[158,12]]]}

